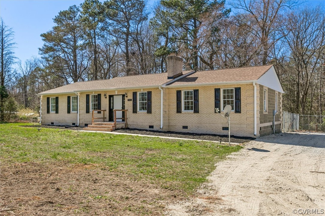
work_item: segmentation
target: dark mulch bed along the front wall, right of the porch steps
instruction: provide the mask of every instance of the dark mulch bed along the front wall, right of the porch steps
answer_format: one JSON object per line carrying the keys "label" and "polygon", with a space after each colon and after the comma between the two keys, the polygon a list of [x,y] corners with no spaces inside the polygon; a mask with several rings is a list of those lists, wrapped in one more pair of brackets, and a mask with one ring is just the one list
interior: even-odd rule
{"label": "dark mulch bed along the front wall, right of the porch steps", "polygon": [[[157,130],[134,129],[134,128],[122,128],[122,129],[114,130],[114,132],[129,133],[129,134],[143,134],[143,135],[162,136],[162,137],[203,139],[203,140],[211,140],[211,141],[220,141],[221,140],[222,142],[228,142],[227,135],[196,134],[196,133],[157,131]],[[255,138],[252,138],[252,137],[230,136],[230,142],[233,142],[233,143],[249,142],[254,139]]]}

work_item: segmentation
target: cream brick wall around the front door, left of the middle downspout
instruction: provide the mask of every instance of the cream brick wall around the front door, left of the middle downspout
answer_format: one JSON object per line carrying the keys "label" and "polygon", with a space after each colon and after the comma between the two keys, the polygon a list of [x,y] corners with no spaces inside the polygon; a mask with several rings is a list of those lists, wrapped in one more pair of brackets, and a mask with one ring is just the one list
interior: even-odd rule
{"label": "cream brick wall around the front door, left of the middle downspout", "polygon": [[[132,99],[132,93],[136,91],[151,91],[151,114],[147,112],[132,112],[133,101],[127,101],[127,99]],[[92,112],[86,113],[86,94],[101,94],[101,109],[106,110],[105,117],[108,121],[109,119],[109,95],[121,95],[127,93],[127,98],[125,98],[125,109],[127,109],[127,123],[131,128],[142,128],[149,129],[149,125],[154,126],[154,130],[160,129],[160,96],[161,91],[158,88],[150,89],[134,89],[134,90],[117,90],[117,91],[91,91],[82,92],[79,96],[79,126],[85,126],[85,124],[91,124]],[[107,98],[104,98],[104,94]],[[54,125],[72,125],[72,123],[77,124],[77,114],[67,113],[67,96],[75,96],[71,94],[65,95],[49,95],[42,96],[42,125],[49,125],[51,122]],[[59,114],[46,113],[46,97],[59,97]],[[167,112],[166,112],[167,114]],[[95,117],[102,117],[103,114],[96,114]],[[167,115],[166,115],[167,116]],[[102,119],[96,119],[95,121],[102,121]]]}

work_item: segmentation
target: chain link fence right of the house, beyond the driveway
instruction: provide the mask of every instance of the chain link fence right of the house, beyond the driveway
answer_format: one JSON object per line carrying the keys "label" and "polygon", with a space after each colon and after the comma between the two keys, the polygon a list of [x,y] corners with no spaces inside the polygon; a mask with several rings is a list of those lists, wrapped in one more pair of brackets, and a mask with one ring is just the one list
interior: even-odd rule
{"label": "chain link fence right of the house, beyond the driveway", "polygon": [[325,132],[324,115],[299,115],[283,112],[283,132],[308,130]]}

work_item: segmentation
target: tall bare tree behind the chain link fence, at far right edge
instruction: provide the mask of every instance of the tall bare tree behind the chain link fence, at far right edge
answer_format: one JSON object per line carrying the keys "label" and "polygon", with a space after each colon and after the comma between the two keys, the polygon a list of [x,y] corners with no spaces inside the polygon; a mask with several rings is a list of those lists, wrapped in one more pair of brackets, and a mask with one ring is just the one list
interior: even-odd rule
{"label": "tall bare tree behind the chain link fence, at far right edge", "polygon": [[318,86],[321,60],[325,51],[325,10],[324,7],[305,7],[288,14],[288,23],[284,31],[290,50],[290,59],[294,64],[295,111],[305,114],[308,100]]}

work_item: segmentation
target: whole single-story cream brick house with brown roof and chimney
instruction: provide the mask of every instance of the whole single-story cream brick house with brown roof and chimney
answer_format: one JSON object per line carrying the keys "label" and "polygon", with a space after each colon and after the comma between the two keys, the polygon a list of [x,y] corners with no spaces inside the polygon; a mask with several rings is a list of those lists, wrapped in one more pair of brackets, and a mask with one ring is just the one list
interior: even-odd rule
{"label": "whole single-story cream brick house with brown roof and chimney", "polygon": [[231,135],[280,132],[283,89],[273,65],[183,71],[181,58],[166,59],[166,73],[76,82],[37,94],[41,124],[111,131],[127,116],[130,128],[227,135],[227,119],[215,108],[222,113],[229,104]]}

